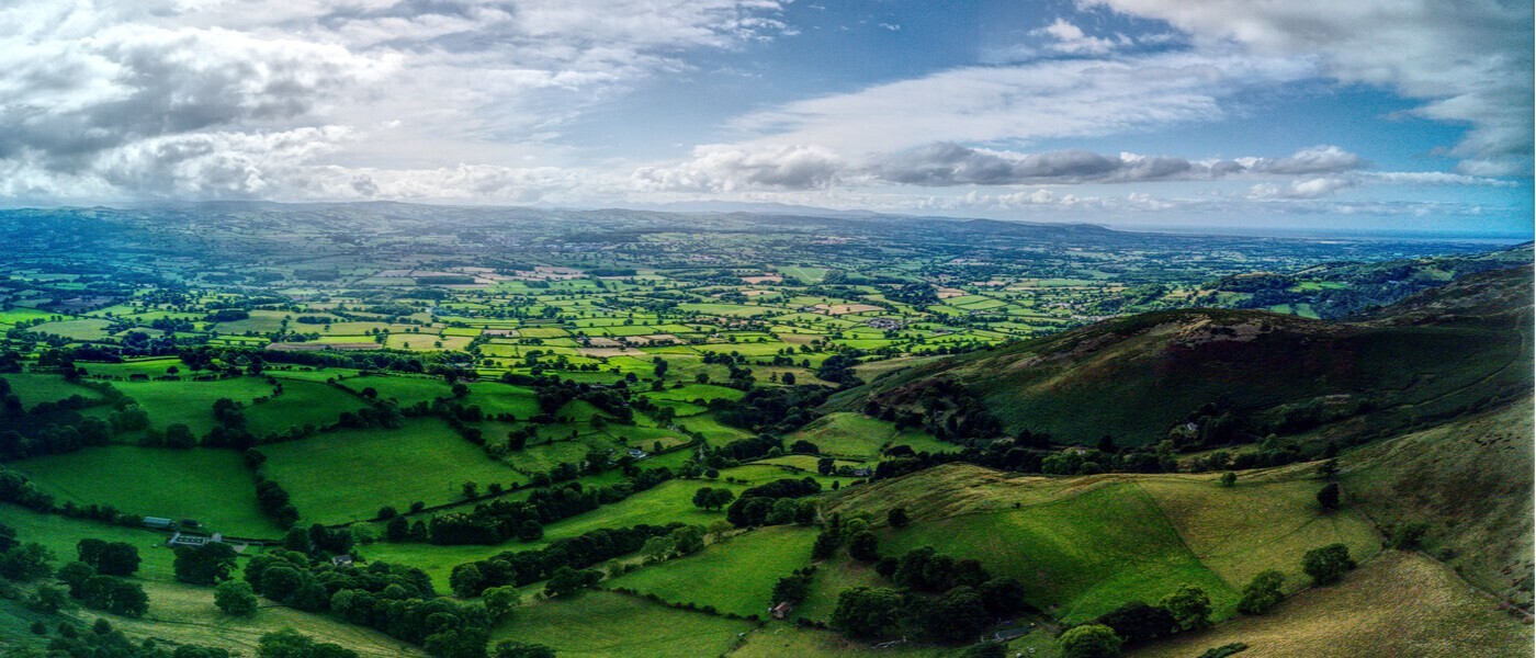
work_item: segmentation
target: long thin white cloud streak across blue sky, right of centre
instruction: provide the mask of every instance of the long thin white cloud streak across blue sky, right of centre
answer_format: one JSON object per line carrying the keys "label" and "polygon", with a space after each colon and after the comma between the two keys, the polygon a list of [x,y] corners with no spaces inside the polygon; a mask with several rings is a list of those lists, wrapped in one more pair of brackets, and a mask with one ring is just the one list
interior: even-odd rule
{"label": "long thin white cloud streak across blue sky, right of centre", "polygon": [[1224,98],[1312,74],[1301,58],[1238,52],[963,67],[753,112],[731,127],[743,141],[819,144],[839,153],[1100,137],[1220,120]]}

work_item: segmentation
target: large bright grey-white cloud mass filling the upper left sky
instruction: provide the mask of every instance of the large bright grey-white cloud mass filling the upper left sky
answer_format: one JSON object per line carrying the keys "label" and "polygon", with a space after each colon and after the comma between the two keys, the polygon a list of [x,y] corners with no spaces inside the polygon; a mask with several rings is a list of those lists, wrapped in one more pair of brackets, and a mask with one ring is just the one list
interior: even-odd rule
{"label": "large bright grey-white cloud mass filling the upper left sky", "polygon": [[548,143],[581,107],[685,69],[691,49],[774,38],[779,6],[17,0],[0,6],[0,195],[559,193],[571,176],[551,167],[438,164]]}

